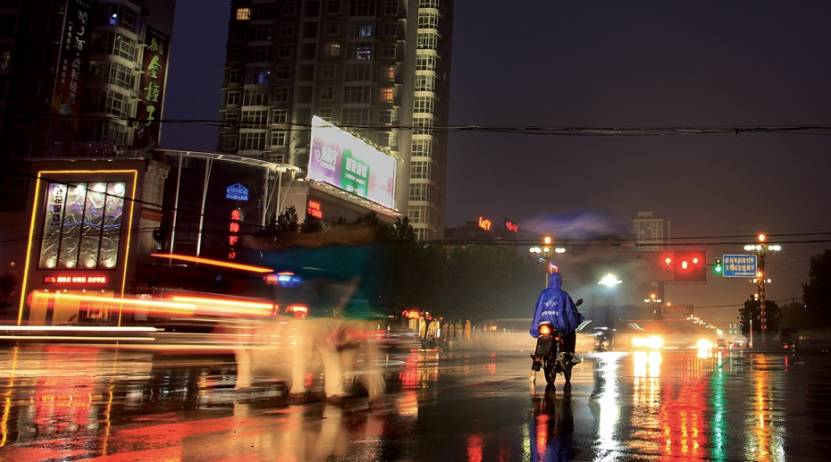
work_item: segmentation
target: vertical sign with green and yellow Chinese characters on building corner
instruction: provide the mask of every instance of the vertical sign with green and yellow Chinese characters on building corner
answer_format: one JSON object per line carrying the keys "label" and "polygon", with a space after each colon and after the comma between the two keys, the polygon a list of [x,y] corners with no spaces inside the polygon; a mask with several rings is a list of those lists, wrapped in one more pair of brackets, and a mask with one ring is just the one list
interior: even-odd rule
{"label": "vertical sign with green and yellow Chinese characters on building corner", "polygon": [[159,144],[159,119],[164,102],[167,54],[170,37],[152,27],[147,28],[144,39],[139,105],[136,117],[139,121],[134,145],[136,147]]}

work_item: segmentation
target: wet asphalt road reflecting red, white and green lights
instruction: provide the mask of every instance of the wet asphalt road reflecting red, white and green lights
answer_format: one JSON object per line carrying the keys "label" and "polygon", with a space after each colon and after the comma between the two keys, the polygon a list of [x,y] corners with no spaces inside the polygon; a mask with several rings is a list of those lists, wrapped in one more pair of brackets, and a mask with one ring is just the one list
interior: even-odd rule
{"label": "wet asphalt road reflecting red, white and green lights", "polygon": [[[831,359],[588,355],[569,390],[527,356],[410,351],[389,393],[289,404],[231,358],[51,346],[0,353],[2,460],[827,460]],[[312,377],[310,377],[312,379]],[[542,381],[542,377],[539,378]]]}

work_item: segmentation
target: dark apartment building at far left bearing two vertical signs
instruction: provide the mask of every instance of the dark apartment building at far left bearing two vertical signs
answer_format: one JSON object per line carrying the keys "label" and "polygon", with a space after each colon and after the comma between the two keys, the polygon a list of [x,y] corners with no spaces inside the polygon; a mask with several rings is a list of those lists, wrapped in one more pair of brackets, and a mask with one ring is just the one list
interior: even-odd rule
{"label": "dark apartment building at far left bearing two vertical signs", "polygon": [[[2,166],[158,145],[174,6],[0,0]],[[26,178],[2,170],[0,189],[23,194]]]}

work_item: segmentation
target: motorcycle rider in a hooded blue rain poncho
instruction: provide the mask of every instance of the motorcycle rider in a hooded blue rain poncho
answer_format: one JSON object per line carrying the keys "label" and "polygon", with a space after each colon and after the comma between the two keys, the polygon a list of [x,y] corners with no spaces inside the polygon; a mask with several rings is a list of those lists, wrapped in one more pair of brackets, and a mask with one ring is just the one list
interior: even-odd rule
{"label": "motorcycle rider in a hooded blue rain poncho", "polygon": [[577,311],[577,306],[568,292],[562,289],[563,279],[560,270],[554,265],[549,265],[548,273],[548,287],[543,289],[537,298],[534,319],[531,321],[531,337],[539,337],[541,322],[550,323],[563,339],[562,351],[571,353],[572,364],[578,364],[581,360],[574,356],[577,344],[576,330],[584,318]]}

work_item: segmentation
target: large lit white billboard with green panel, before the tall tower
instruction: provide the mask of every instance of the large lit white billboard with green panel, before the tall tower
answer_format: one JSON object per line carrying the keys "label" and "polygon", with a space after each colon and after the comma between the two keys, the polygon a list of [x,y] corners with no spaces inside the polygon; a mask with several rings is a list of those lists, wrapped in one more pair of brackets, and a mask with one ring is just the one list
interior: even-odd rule
{"label": "large lit white billboard with green panel, before the tall tower", "polygon": [[320,117],[312,117],[308,178],[395,208],[396,160]]}

